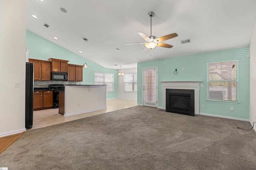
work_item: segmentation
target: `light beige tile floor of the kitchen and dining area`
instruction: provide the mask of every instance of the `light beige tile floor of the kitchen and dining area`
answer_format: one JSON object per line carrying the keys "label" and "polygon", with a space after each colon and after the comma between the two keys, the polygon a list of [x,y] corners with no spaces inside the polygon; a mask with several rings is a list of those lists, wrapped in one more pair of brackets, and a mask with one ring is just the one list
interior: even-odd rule
{"label": "light beige tile floor of the kitchen and dining area", "polygon": [[133,106],[137,106],[137,101],[122,100],[122,99],[107,100],[107,109],[92,111],[88,113],[82,113],[79,115],[73,115],[68,117],[64,117],[63,115],[59,114],[58,108],[38,110],[38,111],[34,111],[33,127],[31,129],[38,129],[41,127],[56,125],[56,124],[64,123],[67,121],[81,119],[84,117],[90,117],[93,115],[99,115],[102,113],[125,109]]}

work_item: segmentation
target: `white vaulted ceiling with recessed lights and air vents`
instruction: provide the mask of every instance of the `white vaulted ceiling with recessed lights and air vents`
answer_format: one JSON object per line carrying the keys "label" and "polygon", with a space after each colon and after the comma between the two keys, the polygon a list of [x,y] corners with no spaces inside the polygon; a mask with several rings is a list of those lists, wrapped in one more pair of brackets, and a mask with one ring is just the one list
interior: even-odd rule
{"label": "white vaulted ceiling with recessed lights and air vents", "polygon": [[[152,35],[177,33],[163,41],[174,47],[143,52],[143,44],[124,45],[145,42],[137,32],[150,35],[150,11]],[[246,47],[255,22],[256,0],[26,0],[29,31],[114,69],[120,69],[114,64],[132,68],[143,61]],[[184,39],[191,43],[181,44]]]}

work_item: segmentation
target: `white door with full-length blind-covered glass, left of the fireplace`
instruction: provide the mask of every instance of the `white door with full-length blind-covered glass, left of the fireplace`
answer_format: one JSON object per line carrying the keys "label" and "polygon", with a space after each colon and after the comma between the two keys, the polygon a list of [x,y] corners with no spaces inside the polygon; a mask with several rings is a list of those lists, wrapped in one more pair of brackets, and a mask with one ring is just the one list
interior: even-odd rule
{"label": "white door with full-length blind-covered glass, left of the fireplace", "polygon": [[157,68],[143,69],[143,106],[157,107]]}

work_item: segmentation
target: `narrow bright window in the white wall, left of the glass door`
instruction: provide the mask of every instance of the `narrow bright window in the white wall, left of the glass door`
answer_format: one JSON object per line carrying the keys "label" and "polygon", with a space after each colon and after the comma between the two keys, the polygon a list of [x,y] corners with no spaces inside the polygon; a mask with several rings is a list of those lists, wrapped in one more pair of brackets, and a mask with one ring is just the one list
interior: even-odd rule
{"label": "narrow bright window in the white wall, left of the glass door", "polygon": [[137,74],[124,74],[124,92],[137,92]]}

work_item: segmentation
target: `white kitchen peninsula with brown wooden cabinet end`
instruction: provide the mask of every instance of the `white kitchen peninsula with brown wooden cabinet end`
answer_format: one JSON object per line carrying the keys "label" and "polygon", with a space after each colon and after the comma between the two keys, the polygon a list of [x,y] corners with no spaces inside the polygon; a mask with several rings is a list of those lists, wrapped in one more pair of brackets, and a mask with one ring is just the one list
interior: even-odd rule
{"label": "white kitchen peninsula with brown wooden cabinet end", "polygon": [[59,113],[64,116],[106,108],[106,85],[65,85],[59,92]]}

